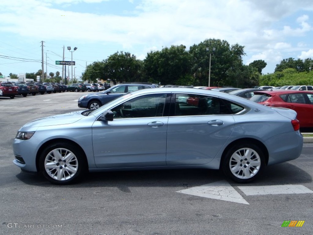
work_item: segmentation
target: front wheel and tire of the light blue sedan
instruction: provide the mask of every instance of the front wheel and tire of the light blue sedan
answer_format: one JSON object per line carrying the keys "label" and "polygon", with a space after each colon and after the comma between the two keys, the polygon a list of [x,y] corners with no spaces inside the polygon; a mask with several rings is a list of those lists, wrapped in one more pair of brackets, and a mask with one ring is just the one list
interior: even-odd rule
{"label": "front wheel and tire of the light blue sedan", "polygon": [[77,182],[88,167],[83,154],[74,144],[57,142],[44,149],[39,157],[39,168],[53,184]]}

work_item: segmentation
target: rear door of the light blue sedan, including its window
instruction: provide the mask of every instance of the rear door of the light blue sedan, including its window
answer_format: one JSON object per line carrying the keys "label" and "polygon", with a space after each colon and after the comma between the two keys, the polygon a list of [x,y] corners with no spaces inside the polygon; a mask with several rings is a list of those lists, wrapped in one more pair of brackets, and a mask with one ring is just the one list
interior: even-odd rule
{"label": "rear door of the light blue sedan, including its window", "polygon": [[167,126],[167,165],[212,161],[234,125],[231,110],[218,97],[174,94]]}

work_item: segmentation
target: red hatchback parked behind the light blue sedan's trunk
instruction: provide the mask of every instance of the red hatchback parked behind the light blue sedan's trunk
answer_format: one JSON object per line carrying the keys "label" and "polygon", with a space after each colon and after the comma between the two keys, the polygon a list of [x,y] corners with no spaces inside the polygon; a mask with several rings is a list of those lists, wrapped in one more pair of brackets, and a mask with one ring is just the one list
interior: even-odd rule
{"label": "red hatchback parked behind the light blue sedan's trunk", "polygon": [[300,127],[313,127],[313,92],[295,90],[254,91],[251,101],[297,112]]}

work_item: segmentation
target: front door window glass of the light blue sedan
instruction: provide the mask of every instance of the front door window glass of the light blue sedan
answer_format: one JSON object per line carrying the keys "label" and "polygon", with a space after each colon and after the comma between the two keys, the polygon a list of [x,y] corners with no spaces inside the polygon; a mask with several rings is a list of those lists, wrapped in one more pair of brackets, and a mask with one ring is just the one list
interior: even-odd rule
{"label": "front door window glass of the light blue sedan", "polygon": [[167,94],[151,94],[126,101],[111,111],[114,118],[162,117]]}

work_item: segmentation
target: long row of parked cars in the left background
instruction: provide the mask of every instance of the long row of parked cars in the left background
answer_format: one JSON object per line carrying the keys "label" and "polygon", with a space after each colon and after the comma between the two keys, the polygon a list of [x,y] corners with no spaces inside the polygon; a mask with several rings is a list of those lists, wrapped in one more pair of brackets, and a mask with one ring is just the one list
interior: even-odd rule
{"label": "long row of parked cars in the left background", "polygon": [[102,91],[110,88],[109,84],[84,84],[73,83],[65,85],[63,83],[54,82],[0,82],[0,96],[10,97],[13,99],[16,95],[26,97],[28,94],[44,94],[65,91]]}

